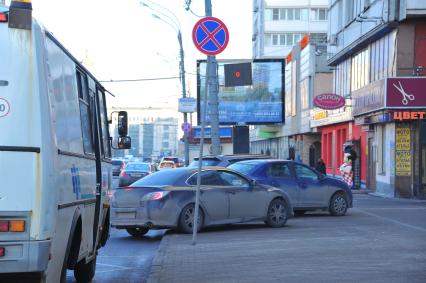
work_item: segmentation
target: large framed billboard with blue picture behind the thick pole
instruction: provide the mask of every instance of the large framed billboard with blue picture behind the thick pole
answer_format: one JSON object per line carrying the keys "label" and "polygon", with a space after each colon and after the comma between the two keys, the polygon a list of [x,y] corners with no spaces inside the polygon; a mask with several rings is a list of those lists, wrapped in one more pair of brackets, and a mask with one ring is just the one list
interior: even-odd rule
{"label": "large framed billboard with blue picture behind the thick pole", "polygon": [[[252,62],[253,84],[225,87],[225,64]],[[218,60],[219,123],[221,125],[282,124],[284,122],[284,59]],[[206,91],[205,60],[197,61],[197,117]],[[206,122],[210,123],[207,105]]]}

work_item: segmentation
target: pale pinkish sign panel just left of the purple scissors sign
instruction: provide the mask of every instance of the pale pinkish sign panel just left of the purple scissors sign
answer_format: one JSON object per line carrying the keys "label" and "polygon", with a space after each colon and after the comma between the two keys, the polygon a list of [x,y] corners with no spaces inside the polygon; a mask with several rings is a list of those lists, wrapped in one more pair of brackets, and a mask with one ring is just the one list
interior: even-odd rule
{"label": "pale pinkish sign panel just left of the purple scissors sign", "polygon": [[352,92],[353,114],[359,116],[385,107],[385,80],[375,81]]}

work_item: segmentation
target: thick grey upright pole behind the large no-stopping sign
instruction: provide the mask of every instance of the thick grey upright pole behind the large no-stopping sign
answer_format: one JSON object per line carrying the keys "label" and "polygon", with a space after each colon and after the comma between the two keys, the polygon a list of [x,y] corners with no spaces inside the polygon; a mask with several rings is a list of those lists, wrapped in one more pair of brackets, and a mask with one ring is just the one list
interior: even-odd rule
{"label": "thick grey upright pole behind the large no-stopping sign", "polygon": [[[206,17],[212,16],[212,2],[205,0]],[[207,69],[211,78],[209,80],[209,116],[211,126],[212,154],[219,155],[220,139],[219,139],[219,82],[217,79],[217,61],[216,56],[207,56]]]}

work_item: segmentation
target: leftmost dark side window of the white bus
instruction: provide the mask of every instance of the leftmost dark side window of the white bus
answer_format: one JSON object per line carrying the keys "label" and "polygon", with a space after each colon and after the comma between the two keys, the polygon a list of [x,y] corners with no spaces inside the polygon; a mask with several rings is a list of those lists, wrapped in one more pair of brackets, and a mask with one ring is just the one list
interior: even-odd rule
{"label": "leftmost dark side window of the white bus", "polygon": [[93,133],[91,124],[90,101],[87,86],[87,77],[77,70],[77,88],[80,101],[81,132],[85,153],[93,154]]}

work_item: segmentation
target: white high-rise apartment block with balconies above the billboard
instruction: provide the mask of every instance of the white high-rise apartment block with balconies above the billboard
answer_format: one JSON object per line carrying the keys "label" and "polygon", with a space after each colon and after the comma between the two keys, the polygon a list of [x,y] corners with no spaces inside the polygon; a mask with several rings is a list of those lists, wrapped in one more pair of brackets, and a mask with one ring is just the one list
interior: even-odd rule
{"label": "white high-rise apartment block with balconies above the billboard", "polygon": [[283,58],[305,34],[326,43],[327,0],[254,0],[253,57]]}

